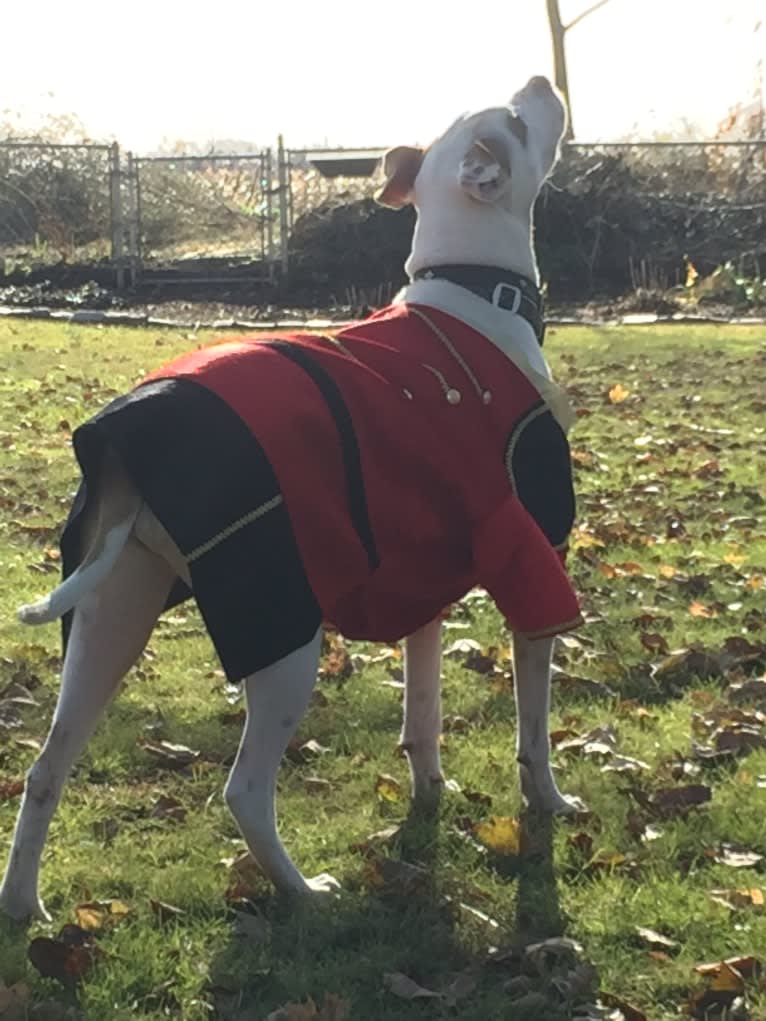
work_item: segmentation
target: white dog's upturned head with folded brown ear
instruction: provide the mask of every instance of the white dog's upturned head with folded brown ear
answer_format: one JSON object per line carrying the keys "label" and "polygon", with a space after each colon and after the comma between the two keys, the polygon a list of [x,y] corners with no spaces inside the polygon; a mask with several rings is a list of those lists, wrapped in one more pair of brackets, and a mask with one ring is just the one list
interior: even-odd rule
{"label": "white dog's upturned head with folded brown ear", "polygon": [[427,148],[389,149],[376,197],[392,208],[467,201],[527,214],[556,162],[565,126],[559,94],[546,78],[532,78],[507,106],[459,117]]}

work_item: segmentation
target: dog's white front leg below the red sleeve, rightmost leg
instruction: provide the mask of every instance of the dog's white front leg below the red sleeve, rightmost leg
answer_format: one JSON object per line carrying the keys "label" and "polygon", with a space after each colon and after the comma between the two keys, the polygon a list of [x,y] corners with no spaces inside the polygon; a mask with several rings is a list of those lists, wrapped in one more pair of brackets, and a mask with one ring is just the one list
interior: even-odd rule
{"label": "dog's white front leg below the red sleeve, rightmost leg", "polygon": [[585,810],[578,797],[562,794],[550,771],[548,713],[554,639],[514,635],[516,757],[524,800],[537,812],[571,815]]}

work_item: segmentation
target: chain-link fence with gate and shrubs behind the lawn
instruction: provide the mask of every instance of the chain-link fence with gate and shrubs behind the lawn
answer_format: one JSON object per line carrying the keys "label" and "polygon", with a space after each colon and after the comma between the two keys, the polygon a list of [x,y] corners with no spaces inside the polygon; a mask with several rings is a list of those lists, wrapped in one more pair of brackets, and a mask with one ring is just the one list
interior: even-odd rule
{"label": "chain-link fence with gate and shrubs behind the lawn", "polygon": [[[0,142],[0,276],[106,268],[214,283],[396,283],[412,213],[376,206],[383,149],[134,157]],[[577,294],[672,286],[686,259],[766,265],[766,140],[570,144],[536,209],[544,275]]]}

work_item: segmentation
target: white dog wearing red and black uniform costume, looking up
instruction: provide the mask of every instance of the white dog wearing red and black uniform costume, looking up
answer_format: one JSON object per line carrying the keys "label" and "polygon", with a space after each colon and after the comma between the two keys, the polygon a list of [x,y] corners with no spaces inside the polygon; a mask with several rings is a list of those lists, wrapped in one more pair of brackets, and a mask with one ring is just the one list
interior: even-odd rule
{"label": "white dog wearing red and black uniform costume, looking up", "polygon": [[83,484],[64,580],[19,615],[61,618],[52,727],[27,787],[0,908],[47,918],[38,874],[73,763],[158,615],[193,595],[247,722],[225,796],[280,890],[306,880],[277,832],[277,772],[308,702],[322,625],[405,641],[401,744],[437,796],[440,620],[475,585],[514,632],[527,804],[578,809],[550,772],[553,636],[579,622],[560,554],[574,501],[568,402],[542,356],[532,207],[563,104],[544,78],[385,156],[384,204],[418,212],[411,283],[336,337],[246,338],[154,373],[76,431]]}

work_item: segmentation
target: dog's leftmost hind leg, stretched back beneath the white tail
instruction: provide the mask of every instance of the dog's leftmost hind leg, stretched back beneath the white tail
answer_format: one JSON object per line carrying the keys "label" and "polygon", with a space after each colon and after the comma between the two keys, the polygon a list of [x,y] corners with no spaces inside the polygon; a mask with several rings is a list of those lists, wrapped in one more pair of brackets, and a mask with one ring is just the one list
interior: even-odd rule
{"label": "dog's leftmost hind leg, stretched back beneath the white tail", "polygon": [[0,910],[12,918],[48,917],[38,874],[50,821],[73,764],[144,648],[173,578],[164,561],[129,538],[111,573],[75,610],[58,704],[27,776],[0,886]]}

